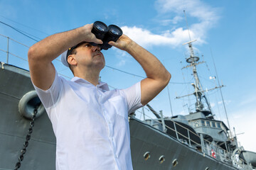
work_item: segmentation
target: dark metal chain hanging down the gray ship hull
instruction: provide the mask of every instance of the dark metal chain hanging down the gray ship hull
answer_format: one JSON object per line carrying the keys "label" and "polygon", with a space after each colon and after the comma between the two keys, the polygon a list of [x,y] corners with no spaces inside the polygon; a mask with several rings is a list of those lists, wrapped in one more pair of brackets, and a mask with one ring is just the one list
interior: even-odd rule
{"label": "dark metal chain hanging down the gray ship hull", "polygon": [[35,123],[36,113],[38,113],[38,107],[34,109],[32,120],[30,123],[30,128],[28,129],[28,135],[26,135],[26,141],[23,144],[23,149],[21,149],[21,155],[18,157],[18,162],[16,163],[15,169],[17,170],[21,167],[21,162],[24,158],[24,154],[26,153],[26,147],[28,147],[28,141],[31,139],[31,133],[33,132],[33,125]]}

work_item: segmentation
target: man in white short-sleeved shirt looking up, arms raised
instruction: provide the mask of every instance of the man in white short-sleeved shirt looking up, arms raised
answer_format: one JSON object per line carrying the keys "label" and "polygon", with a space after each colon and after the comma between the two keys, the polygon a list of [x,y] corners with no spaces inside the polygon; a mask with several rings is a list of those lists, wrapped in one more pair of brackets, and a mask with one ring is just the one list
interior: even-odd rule
{"label": "man in white short-sleeved shirt looking up, arms raised", "polygon": [[[102,44],[91,33],[92,25],[50,35],[33,45],[28,50],[31,80],[53,125],[56,169],[130,170],[128,114],[159,94],[171,74],[154,55],[122,35],[109,44],[132,55],[146,79],[128,89],[109,91],[98,81],[105,66],[100,46],[88,43]],[[58,77],[52,64],[63,52],[62,61],[75,76],[71,81]]]}

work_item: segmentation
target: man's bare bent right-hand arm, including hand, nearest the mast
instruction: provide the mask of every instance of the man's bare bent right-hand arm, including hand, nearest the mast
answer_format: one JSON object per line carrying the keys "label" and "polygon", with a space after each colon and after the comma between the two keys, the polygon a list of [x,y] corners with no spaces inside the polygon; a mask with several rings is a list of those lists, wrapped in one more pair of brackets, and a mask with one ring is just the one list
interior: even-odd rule
{"label": "man's bare bent right-hand arm, including hand, nearest the mast", "polygon": [[164,65],[154,55],[128,38],[127,35],[122,35],[117,42],[110,42],[110,45],[127,51],[146,72],[146,79],[141,81],[142,105],[149,103],[169,83],[171,74]]}

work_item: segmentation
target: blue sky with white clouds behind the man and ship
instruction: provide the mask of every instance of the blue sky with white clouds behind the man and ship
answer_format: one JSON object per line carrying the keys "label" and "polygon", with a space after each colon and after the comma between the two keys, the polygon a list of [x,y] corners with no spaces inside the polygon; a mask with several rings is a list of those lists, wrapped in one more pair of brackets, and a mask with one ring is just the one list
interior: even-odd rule
{"label": "blue sky with white clouds behind the man and ship", "polygon": [[[174,115],[187,114],[194,101],[188,98],[174,99],[192,93],[191,69],[187,65],[188,30],[183,10],[186,10],[188,26],[196,53],[201,61],[198,74],[204,89],[211,89],[217,68],[230,127],[235,127],[238,140],[245,149],[256,152],[256,1],[199,1],[199,0],[142,0],[142,1],[0,1],[0,21],[29,33],[36,40],[53,33],[78,28],[87,23],[102,21],[115,24],[146,50],[156,55],[172,74],[167,88],[150,102],[156,110],[171,116],[169,95]],[[34,40],[26,38],[14,29],[0,23],[0,34],[31,46]],[[6,38],[0,36],[0,49],[6,50]],[[10,41],[9,50],[26,60],[28,48]],[[143,69],[125,52],[112,49],[104,51],[106,65],[100,76],[110,86],[126,88],[145,77]],[[202,57],[203,55],[203,57]],[[0,51],[0,61],[6,62],[6,53]],[[26,61],[13,55],[9,63],[28,69]],[[58,60],[53,62],[60,74],[72,77],[71,72]],[[111,69],[113,67],[115,69]],[[183,78],[184,77],[184,78]],[[112,88],[110,88],[112,89]],[[208,91],[215,118],[226,123],[220,91]],[[193,97],[190,97],[192,100]],[[186,105],[188,103],[188,105]],[[139,110],[141,111],[141,110]],[[146,111],[147,112],[147,111]],[[148,113],[151,118],[154,115]],[[137,118],[142,118],[137,112]]]}

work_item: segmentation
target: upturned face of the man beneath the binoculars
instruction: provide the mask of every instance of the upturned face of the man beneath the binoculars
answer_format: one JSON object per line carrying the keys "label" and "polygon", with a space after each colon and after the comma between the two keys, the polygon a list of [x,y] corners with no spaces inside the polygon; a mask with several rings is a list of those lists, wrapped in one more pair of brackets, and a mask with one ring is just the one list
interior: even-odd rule
{"label": "upturned face of the man beneath the binoculars", "polygon": [[75,60],[78,67],[87,67],[88,69],[103,69],[105,67],[105,58],[100,52],[100,46],[93,46],[89,42],[84,42],[75,48]]}

